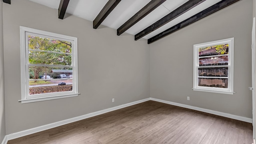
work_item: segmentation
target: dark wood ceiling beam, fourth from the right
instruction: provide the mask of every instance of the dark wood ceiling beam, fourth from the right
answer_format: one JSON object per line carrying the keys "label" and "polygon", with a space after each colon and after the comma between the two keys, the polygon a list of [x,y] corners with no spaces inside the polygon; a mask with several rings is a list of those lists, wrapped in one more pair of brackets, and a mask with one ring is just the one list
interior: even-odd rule
{"label": "dark wood ceiling beam, fourth from the right", "polygon": [[98,16],[93,20],[93,28],[97,29],[98,26],[105,20],[105,18],[114,10],[121,0],[108,0],[106,5],[102,8]]}

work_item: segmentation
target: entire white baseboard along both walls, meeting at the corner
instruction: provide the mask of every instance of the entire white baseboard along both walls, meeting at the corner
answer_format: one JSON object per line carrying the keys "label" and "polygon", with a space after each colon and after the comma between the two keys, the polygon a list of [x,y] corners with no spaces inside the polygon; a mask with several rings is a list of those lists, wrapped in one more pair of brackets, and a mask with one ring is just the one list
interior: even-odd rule
{"label": "entire white baseboard along both walls, meeting at the corner", "polygon": [[[76,122],[76,121],[79,121],[79,120],[84,120],[86,118],[90,118],[90,117],[93,117],[93,116],[98,116],[100,114],[104,114],[104,113],[111,112],[111,111],[114,111],[114,110],[118,110],[118,109],[121,109],[121,108],[125,108],[125,107],[128,107],[128,106],[132,106],[134,104],[139,104],[139,103],[142,103],[142,102],[146,102],[148,100],[153,100],[153,101],[156,101],[156,102],[162,102],[162,103],[165,103],[165,104],[171,104],[171,105],[174,105],[174,106],[180,106],[180,107],[183,107],[183,108],[189,108],[189,109],[192,109],[192,110],[198,110],[200,112],[206,112],[206,113],[209,113],[209,114],[215,114],[215,115],[218,115],[218,116],[224,116],[224,117],[227,117],[227,118],[232,118],[232,119],[235,119],[235,120],[241,120],[241,121],[244,121],[244,122],[252,123],[252,118],[245,118],[245,117],[242,117],[242,116],[236,116],[236,115],[227,114],[227,113],[224,113],[224,112],[218,112],[218,111],[214,111],[214,110],[198,108],[198,107],[189,106],[189,105],[186,105],[186,104],[179,104],[179,103],[176,103],[176,102],[169,102],[169,101],[166,101],[166,100],[160,100],[160,99],[156,99],[156,98],[146,98],[144,100],[138,100],[136,102],[123,104],[123,105],[116,106],[116,107],[113,107],[113,108],[108,108],[106,110],[100,110],[98,112],[92,112],[90,114],[85,114],[83,116],[78,116],[78,117],[75,117],[75,118],[70,118],[70,119],[67,119],[67,120],[54,122],[52,124],[46,124],[44,126],[38,126],[36,128],[31,128],[31,129],[24,130],[24,131],[21,131],[21,132],[8,134],[4,137],[4,140],[3,140],[2,144],[7,144],[8,140],[12,140],[12,139],[15,139],[15,138],[20,138],[22,136],[27,136],[29,134],[34,134],[36,132],[42,132],[44,130],[48,130],[48,129],[51,129],[51,128],[56,128],[58,126],[62,126],[62,125],[69,124],[69,123],[72,123],[72,122]],[[254,142],[255,142],[255,140],[254,140]]]}

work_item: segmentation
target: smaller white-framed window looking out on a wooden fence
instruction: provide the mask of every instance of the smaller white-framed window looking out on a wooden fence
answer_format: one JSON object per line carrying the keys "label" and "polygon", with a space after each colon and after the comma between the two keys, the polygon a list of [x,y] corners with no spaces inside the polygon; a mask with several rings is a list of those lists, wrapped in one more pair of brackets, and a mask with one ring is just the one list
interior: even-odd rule
{"label": "smaller white-framed window looking out on a wooden fence", "polygon": [[193,90],[233,94],[234,38],[194,45]]}

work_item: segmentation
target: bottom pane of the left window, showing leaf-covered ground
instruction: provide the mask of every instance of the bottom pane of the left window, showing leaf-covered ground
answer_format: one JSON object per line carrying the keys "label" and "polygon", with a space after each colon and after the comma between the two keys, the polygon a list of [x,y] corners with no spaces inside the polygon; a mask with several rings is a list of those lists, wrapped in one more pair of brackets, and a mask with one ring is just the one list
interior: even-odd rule
{"label": "bottom pane of the left window, showing leaf-covered ground", "polygon": [[32,80],[29,81],[29,94],[47,94],[52,92],[68,92],[73,90],[73,80]]}

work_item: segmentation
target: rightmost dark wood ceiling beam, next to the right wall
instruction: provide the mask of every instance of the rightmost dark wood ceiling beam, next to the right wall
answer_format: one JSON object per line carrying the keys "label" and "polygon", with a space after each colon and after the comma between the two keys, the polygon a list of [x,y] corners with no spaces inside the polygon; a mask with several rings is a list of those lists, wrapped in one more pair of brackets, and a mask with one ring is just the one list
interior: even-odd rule
{"label": "rightmost dark wood ceiling beam, next to the right wall", "polygon": [[161,32],[160,34],[153,36],[152,38],[149,38],[148,44],[151,44],[152,42],[155,42],[160,38],[168,36],[169,34],[172,34],[177,30],[180,30],[190,24],[193,24],[194,22],[197,22],[198,20],[201,20],[202,18],[205,18],[206,16],[213,14],[214,12],[218,12],[219,10],[226,8],[227,6],[230,6],[231,4],[234,4],[235,2],[238,2],[238,1],[240,0],[222,0],[217,4],[214,4],[213,6],[210,6],[209,8],[203,10],[202,12],[199,12],[198,14],[191,16],[190,18],[176,24],[175,26],[172,26],[171,28],[165,30],[164,32]]}

